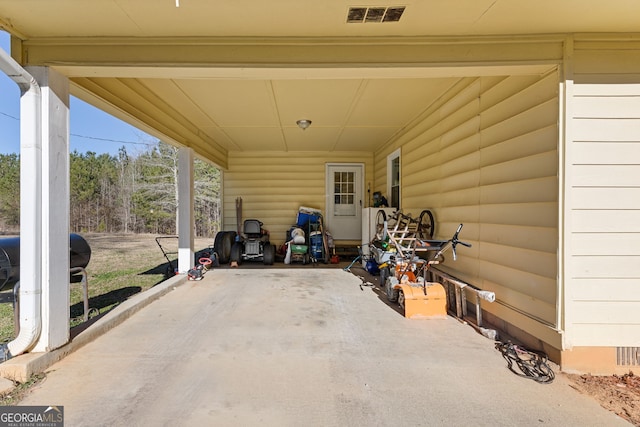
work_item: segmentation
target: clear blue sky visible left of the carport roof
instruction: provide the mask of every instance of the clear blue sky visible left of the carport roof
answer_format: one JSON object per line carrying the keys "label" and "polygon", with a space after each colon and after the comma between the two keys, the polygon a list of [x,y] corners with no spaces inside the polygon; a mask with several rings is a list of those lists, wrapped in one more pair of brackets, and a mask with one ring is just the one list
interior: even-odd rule
{"label": "clear blue sky visible left of the carport roof", "polygon": [[[9,35],[0,31],[0,49],[9,53]],[[0,71],[0,154],[20,152],[20,90]],[[117,154],[126,147],[131,154],[142,151],[156,138],[101,110],[71,97],[70,149],[79,153]]]}

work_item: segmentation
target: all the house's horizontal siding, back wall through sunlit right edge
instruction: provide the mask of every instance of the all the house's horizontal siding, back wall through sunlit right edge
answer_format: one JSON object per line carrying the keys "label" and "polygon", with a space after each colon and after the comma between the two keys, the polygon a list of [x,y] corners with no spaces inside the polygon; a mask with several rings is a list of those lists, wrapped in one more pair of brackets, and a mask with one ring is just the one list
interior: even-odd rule
{"label": "all the house's horizontal siding, back wall through sunlit right edge", "polygon": [[620,46],[578,38],[557,71],[451,78],[374,154],[230,153],[225,228],[241,196],[282,242],[300,205],[324,209],[326,163],[364,162],[388,196],[400,149],[402,210],[431,209],[437,238],[464,223],[473,247],[442,267],[496,293],[491,318],[556,350],[638,346],[640,42]]}

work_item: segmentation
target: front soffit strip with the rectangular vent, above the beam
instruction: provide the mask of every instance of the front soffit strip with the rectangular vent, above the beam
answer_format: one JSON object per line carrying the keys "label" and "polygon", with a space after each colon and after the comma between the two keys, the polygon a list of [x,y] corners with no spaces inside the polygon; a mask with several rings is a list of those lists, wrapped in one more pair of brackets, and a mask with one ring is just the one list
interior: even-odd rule
{"label": "front soffit strip with the rectangular vent, above the beam", "polygon": [[[176,6],[179,7],[176,7]],[[635,0],[425,0],[399,22],[347,23],[343,0],[0,0],[5,26],[33,37],[411,36],[637,31]],[[385,6],[388,4],[383,4]]]}

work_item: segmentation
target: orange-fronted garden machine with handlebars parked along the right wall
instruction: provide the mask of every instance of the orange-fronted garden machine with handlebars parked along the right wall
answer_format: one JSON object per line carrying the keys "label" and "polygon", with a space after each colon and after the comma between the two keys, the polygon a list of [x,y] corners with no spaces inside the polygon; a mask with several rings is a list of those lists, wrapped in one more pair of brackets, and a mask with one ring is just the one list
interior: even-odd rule
{"label": "orange-fronted garden machine with handlebars parked along the right wall", "polygon": [[[458,235],[462,224],[449,240],[421,240],[416,237],[397,237],[389,232],[389,244],[395,254],[380,266],[381,282],[384,276],[384,290],[390,302],[397,302],[407,318],[434,318],[447,315],[447,297],[442,284],[428,281],[428,271],[432,265],[444,260],[444,253],[451,248],[455,261],[456,246],[462,242]],[[420,258],[420,252],[427,256]],[[435,252],[435,255],[429,256]],[[392,252],[393,253],[393,252]],[[382,271],[385,271],[383,274]]]}

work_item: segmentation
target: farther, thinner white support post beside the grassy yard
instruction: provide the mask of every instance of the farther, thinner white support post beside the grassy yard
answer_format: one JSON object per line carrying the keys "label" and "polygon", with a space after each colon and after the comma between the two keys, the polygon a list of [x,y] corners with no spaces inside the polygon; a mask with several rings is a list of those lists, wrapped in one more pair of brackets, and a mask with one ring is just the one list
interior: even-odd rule
{"label": "farther, thinner white support post beside the grassy yard", "polygon": [[193,150],[178,151],[178,272],[186,274],[194,265]]}

